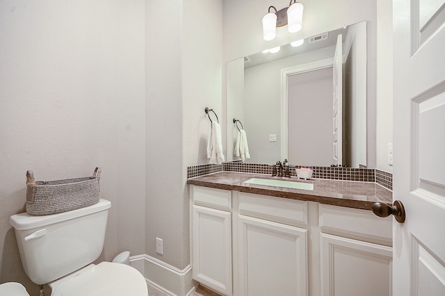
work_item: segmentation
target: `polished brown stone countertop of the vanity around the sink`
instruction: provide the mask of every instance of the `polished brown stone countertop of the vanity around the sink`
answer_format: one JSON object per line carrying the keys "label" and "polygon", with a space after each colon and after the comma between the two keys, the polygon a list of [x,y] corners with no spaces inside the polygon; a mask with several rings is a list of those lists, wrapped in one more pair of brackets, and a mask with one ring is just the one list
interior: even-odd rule
{"label": "polished brown stone countertop of the vanity around the sink", "polygon": [[[264,186],[243,183],[251,178],[313,183],[314,190],[301,190],[278,186]],[[327,179],[301,180],[297,179],[296,177],[273,177],[266,174],[217,172],[188,179],[187,183],[210,188],[254,193],[258,195],[319,202],[321,204],[331,204],[333,206],[362,208],[365,210],[371,210],[371,206],[375,202],[392,204],[391,190],[371,182],[338,181]]]}

